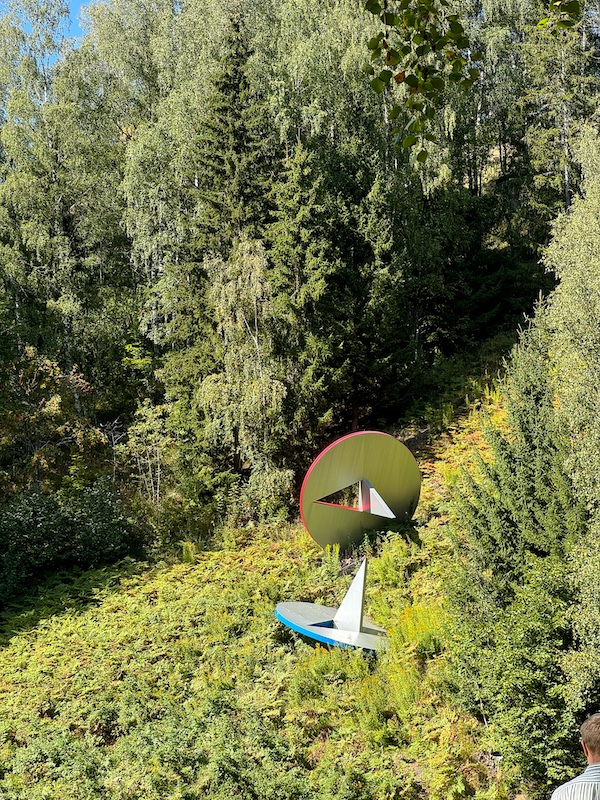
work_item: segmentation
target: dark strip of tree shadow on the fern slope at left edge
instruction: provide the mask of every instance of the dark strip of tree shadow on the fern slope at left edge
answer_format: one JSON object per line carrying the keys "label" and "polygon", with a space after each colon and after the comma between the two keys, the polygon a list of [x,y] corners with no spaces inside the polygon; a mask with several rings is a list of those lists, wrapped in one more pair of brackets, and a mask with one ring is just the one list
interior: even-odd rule
{"label": "dark strip of tree shadow on the fern slope at left edge", "polygon": [[0,608],[0,647],[6,647],[14,636],[32,630],[45,619],[100,605],[124,578],[140,575],[148,568],[145,561],[126,558],[97,569],[58,572],[44,583],[21,591]]}

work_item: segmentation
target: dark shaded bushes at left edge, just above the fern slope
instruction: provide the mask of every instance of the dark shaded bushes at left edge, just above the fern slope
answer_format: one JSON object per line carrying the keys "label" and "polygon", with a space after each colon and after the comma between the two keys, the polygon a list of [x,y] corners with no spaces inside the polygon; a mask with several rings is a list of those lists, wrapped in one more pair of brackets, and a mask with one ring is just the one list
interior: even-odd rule
{"label": "dark shaded bushes at left edge, just above the fern slope", "polygon": [[0,511],[0,603],[52,572],[99,566],[140,549],[106,481],[64,498],[17,494]]}

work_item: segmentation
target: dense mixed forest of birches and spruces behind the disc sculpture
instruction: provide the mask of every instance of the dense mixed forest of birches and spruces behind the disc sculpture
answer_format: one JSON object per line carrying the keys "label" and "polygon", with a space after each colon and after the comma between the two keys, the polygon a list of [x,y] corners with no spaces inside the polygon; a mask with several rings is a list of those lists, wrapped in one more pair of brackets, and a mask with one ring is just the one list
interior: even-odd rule
{"label": "dense mixed forest of birches and spruces behind the disc sculpture", "polygon": [[593,15],[554,37],[535,4],[469,13],[486,68],[448,84],[419,172],[361,71],[359,3],[97,4],[76,48],[59,3],[9,7],[3,406],[54,370],[55,428],[81,431],[19,408],[8,492],[78,459],[151,502],[286,507],[333,431],[397,420],[514,326],[577,190]]}

